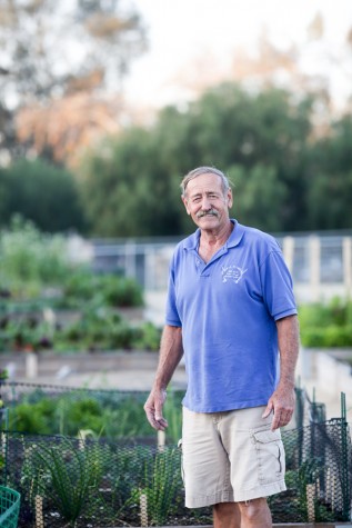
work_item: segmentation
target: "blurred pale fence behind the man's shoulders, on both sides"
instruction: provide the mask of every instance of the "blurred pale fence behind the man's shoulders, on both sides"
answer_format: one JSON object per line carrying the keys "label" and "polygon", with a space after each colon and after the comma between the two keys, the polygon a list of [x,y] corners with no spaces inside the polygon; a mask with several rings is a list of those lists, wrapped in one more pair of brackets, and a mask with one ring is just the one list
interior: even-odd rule
{"label": "blurred pale fence behind the man's shoulders, on both sides", "polygon": [[[352,296],[352,236],[286,235],[276,237],[292,272],[296,295],[316,301]],[[179,239],[158,242],[92,242],[92,266],[137,279],[145,290],[165,290],[170,258]]]}

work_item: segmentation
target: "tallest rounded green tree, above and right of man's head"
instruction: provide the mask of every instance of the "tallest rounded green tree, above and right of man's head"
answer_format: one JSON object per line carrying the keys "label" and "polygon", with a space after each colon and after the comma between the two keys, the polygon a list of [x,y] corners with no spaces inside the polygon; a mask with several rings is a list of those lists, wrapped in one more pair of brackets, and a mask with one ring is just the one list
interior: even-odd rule
{"label": "tallest rounded green tree, above and right of man's head", "polygon": [[[265,191],[268,202],[264,207],[261,199],[259,206],[264,207],[264,211],[258,209],[253,220],[260,217],[263,229],[272,229],[269,211],[273,209],[278,213],[276,230],[302,229],[306,213],[305,173],[314,102],[312,96],[300,99],[279,89],[249,93],[232,83],[210,89],[190,104],[183,117],[180,114],[187,126],[183,127],[182,150],[177,155],[182,160],[179,166],[187,161],[187,168],[184,163],[182,167],[184,172],[199,165],[214,165],[230,176],[231,167],[242,167],[239,181],[234,181],[238,183],[239,207],[242,197],[244,202],[247,200],[247,189],[253,190],[254,183],[248,187],[247,179],[255,178],[255,185],[259,185],[259,173],[262,178],[275,175],[269,178],[268,186],[275,187],[274,180],[280,181],[280,192],[279,188],[276,195],[275,189]],[[280,205],[269,200],[271,192],[272,197],[280,197]],[[244,211],[250,220],[248,207]]]}

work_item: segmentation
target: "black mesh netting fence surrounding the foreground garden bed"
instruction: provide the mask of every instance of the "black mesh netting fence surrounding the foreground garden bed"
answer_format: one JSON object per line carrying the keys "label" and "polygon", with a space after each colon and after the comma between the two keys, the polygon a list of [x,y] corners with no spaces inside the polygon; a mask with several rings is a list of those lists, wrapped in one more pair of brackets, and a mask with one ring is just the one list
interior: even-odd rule
{"label": "black mesh netting fence surrounding the foreground garden bed", "polygon": [[[145,397],[135,392],[64,389],[6,383],[2,398],[11,399],[11,402],[7,401],[10,408],[8,424],[11,425],[16,409],[28,401],[36,406],[51,398],[58,405],[58,398],[64,397],[74,406],[78,401],[87,404],[89,396],[103,405],[112,398],[117,407],[129,401],[140,408]],[[306,425],[282,432],[288,490],[269,499],[273,520],[349,521],[352,454],[345,416],[321,421],[323,415],[312,411],[316,404],[300,396],[301,412],[303,417],[310,416],[310,420],[306,424],[304,419]],[[180,415],[174,415],[173,419],[181,421]],[[131,420],[137,422],[139,415],[134,412]],[[134,424],[130,426],[133,429]],[[20,527],[211,524],[210,509],[190,510],[183,506],[181,452],[172,438],[165,445],[157,446],[152,429],[149,436],[120,435],[114,439],[107,438],[103,432],[99,437],[88,429],[80,431],[79,438],[77,435],[2,431],[0,485],[21,494]]]}

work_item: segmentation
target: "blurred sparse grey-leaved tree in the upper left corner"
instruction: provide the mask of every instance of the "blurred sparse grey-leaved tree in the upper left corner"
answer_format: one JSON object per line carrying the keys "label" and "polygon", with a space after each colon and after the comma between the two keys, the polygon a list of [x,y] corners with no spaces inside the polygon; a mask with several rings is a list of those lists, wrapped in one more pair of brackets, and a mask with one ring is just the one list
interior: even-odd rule
{"label": "blurred sparse grey-leaved tree in the upper left corner", "polygon": [[119,0],[3,0],[0,30],[0,89],[8,119],[33,103],[103,88],[115,91],[145,48],[139,14]]}

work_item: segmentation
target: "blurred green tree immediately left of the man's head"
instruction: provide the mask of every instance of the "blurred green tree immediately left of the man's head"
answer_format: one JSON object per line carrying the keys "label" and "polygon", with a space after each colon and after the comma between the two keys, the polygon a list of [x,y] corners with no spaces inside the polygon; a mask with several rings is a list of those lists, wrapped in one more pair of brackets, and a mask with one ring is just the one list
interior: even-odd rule
{"label": "blurred green tree immediately left of the man's head", "polygon": [[[181,200],[159,159],[155,137],[131,129],[107,139],[80,168],[81,199],[92,233],[103,237],[172,235]],[[180,201],[180,203],[179,203]]]}

